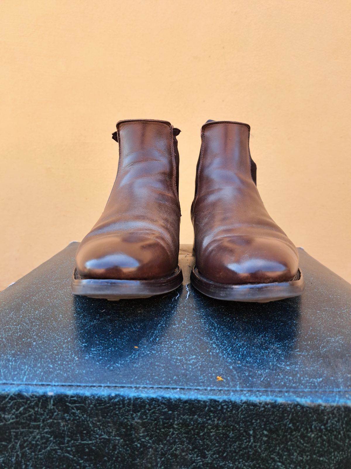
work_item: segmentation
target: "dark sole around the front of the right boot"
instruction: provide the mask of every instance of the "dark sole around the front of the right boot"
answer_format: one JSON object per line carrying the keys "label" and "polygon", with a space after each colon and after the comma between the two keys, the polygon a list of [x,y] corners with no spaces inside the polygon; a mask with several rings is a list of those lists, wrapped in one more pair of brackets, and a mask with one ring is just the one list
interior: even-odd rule
{"label": "dark sole around the front of the right boot", "polygon": [[301,295],[305,288],[300,269],[296,276],[288,282],[247,283],[229,285],[216,283],[206,279],[194,266],[190,273],[191,284],[204,295],[216,300],[267,303]]}

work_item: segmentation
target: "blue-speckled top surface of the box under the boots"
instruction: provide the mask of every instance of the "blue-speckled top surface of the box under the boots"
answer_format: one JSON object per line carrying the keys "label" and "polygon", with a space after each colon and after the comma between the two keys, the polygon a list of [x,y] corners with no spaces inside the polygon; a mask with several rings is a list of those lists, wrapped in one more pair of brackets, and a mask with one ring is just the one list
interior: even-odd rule
{"label": "blue-speckled top surface of the box under the boots", "polygon": [[72,295],[77,244],[0,294],[3,388],[351,404],[351,285],[304,250],[301,297],[212,300],[184,245],[182,287],[110,302]]}

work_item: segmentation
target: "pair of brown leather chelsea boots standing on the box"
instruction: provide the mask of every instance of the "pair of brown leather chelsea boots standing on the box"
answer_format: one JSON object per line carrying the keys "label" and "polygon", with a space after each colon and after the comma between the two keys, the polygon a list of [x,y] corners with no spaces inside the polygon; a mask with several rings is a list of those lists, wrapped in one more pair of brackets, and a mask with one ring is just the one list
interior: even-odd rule
{"label": "pair of brown leather chelsea boots standing on the box", "polygon": [[[240,122],[202,126],[190,280],[212,298],[266,302],[300,295],[304,282],[295,246],[258,194],[249,132]],[[117,123],[117,177],[105,210],[77,250],[74,295],[140,298],[182,284],[179,133],[167,121]]]}

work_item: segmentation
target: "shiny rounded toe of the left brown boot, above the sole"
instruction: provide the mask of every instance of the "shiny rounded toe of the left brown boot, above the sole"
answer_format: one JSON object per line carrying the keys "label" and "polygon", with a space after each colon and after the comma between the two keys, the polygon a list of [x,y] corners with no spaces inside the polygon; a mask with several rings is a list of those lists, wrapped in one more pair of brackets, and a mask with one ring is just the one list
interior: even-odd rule
{"label": "shiny rounded toe of the left brown boot, above the sole", "polygon": [[160,242],[138,234],[88,237],[76,254],[77,272],[92,279],[155,279],[172,273],[173,264]]}

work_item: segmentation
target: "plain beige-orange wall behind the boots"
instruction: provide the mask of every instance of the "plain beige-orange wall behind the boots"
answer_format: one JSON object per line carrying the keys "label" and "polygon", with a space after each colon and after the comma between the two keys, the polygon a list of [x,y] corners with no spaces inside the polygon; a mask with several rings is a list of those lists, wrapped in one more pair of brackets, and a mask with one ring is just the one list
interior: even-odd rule
{"label": "plain beige-orange wall behind the boots", "polygon": [[349,0],[2,0],[0,18],[0,288],[95,223],[127,118],[182,129],[181,242],[201,124],[244,121],[271,216],[351,281]]}

